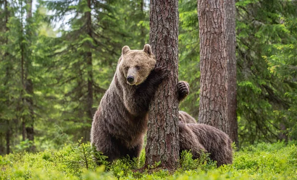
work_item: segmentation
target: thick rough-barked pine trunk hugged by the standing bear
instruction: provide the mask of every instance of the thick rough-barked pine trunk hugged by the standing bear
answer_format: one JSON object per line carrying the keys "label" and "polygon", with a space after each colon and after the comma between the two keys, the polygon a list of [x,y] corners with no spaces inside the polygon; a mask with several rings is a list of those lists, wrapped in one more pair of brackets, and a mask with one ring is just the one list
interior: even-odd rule
{"label": "thick rough-barked pine trunk hugged by the standing bear", "polygon": [[149,41],[157,64],[167,67],[149,106],[146,167],[175,169],[179,162],[178,139],[178,0],[150,0]]}

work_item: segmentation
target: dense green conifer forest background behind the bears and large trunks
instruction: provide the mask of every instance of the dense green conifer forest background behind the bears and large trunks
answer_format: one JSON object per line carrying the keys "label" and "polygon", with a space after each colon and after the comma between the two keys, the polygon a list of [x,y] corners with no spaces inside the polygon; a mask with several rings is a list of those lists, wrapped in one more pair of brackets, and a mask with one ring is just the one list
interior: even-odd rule
{"label": "dense green conifer forest background behind the bears and large trunks", "polygon": [[[148,3],[0,0],[0,154],[89,141],[121,48],[148,43]],[[197,1],[179,13],[180,109],[197,119]],[[236,35],[240,147],[297,139],[297,1],[237,0]]]}

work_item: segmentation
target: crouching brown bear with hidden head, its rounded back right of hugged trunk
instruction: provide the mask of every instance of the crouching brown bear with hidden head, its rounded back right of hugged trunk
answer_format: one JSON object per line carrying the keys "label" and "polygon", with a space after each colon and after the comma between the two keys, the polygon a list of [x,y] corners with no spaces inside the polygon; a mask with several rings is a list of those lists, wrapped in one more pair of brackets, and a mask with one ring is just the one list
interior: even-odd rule
{"label": "crouching brown bear with hidden head, its rounded back right of hugged trunk", "polygon": [[[189,115],[190,116],[190,115]],[[229,136],[210,125],[179,122],[180,153],[191,150],[193,158],[199,158],[201,152],[210,153],[209,158],[217,166],[232,164],[232,140]]]}

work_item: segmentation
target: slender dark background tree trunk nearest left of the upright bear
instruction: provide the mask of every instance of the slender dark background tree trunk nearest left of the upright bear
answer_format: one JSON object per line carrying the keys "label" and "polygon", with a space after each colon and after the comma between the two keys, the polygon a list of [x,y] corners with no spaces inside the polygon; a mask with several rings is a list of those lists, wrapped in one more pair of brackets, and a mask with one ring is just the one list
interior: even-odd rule
{"label": "slender dark background tree trunk nearest left of the upright bear", "polygon": [[[88,7],[91,9],[91,0],[87,0]],[[87,33],[92,38],[92,17],[91,11],[85,13],[87,19]],[[90,48],[91,49],[91,48]],[[87,72],[88,72],[88,98],[87,98],[87,114],[90,120],[90,123],[93,119],[93,63],[92,63],[92,52],[86,53],[87,60]],[[86,129],[85,140],[90,139],[90,129]]]}

